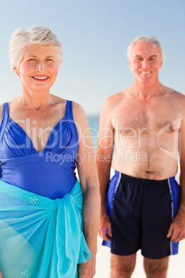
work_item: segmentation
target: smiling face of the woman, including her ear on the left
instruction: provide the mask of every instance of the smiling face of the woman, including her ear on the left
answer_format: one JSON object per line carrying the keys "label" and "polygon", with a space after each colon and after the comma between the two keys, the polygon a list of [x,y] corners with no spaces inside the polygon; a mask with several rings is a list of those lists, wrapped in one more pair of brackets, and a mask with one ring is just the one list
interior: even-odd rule
{"label": "smiling face of the woman, including her ear on the left", "polygon": [[28,46],[23,50],[19,68],[14,68],[13,71],[20,75],[23,89],[49,91],[59,71],[56,52],[39,44]]}

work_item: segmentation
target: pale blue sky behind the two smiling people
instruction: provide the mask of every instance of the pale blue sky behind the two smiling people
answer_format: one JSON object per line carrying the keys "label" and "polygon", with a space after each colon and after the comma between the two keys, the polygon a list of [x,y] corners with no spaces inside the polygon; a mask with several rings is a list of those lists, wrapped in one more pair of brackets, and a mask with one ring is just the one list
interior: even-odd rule
{"label": "pale blue sky behind the two smiling people", "polygon": [[159,39],[166,55],[159,80],[185,94],[184,0],[0,0],[0,6],[1,103],[21,95],[10,70],[10,36],[32,25],[51,28],[63,46],[64,65],[50,93],[75,100],[88,115],[132,86],[126,51],[139,35]]}

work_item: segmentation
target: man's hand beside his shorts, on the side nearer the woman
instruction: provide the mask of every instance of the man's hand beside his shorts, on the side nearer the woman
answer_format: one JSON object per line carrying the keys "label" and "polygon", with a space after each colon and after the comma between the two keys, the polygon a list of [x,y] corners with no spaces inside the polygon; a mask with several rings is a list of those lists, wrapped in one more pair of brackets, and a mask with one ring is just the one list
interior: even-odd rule
{"label": "man's hand beside his shorts, on the side nearer the woman", "polygon": [[99,219],[99,236],[106,241],[110,241],[113,237],[110,217],[108,214],[101,214]]}

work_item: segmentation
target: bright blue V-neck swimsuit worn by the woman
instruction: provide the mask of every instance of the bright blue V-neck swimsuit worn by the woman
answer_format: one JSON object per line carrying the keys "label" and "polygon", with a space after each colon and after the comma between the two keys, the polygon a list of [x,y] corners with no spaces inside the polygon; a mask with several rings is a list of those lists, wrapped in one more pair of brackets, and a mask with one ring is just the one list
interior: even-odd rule
{"label": "bright blue V-neck swimsuit worn by the woman", "polygon": [[30,192],[51,199],[62,198],[76,183],[79,149],[72,102],[66,102],[66,115],[52,130],[43,151],[38,152],[25,131],[9,117],[3,104],[0,128],[0,178]]}

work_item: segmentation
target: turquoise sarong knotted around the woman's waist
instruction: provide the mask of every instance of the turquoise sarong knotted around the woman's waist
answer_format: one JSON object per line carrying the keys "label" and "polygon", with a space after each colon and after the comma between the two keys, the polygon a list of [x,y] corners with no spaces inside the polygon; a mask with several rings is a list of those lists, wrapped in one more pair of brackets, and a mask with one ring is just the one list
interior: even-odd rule
{"label": "turquoise sarong knotted around the woman's waist", "polygon": [[0,268],[3,278],[75,278],[91,258],[83,234],[83,194],[52,200],[0,180]]}

